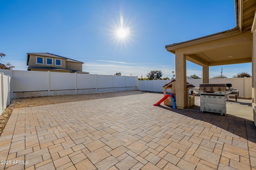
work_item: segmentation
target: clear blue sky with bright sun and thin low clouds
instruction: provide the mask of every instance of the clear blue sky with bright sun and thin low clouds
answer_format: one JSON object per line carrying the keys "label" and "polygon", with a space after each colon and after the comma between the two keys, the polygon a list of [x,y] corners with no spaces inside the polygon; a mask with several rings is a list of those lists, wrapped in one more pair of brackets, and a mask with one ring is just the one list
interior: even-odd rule
{"label": "clear blue sky with bright sun and thin low clouds", "polygon": [[[53,53],[84,62],[90,74],[172,77],[165,45],[236,26],[234,0],[0,0],[0,11],[0,63],[15,70],[27,70],[26,53]],[[212,66],[210,77],[221,68],[228,78],[252,72],[251,63]],[[201,77],[202,67],[187,61],[192,74]]]}

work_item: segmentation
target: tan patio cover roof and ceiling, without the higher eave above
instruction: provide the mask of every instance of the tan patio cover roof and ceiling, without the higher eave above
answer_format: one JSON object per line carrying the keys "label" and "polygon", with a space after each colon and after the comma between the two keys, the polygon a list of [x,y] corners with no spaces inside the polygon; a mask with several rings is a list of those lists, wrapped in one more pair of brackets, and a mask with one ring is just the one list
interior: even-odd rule
{"label": "tan patio cover roof and ceiling, without the higher eave above", "polygon": [[182,51],[186,60],[201,66],[252,62],[252,33],[240,33],[238,27],[193,39],[190,41],[166,45],[171,53]]}

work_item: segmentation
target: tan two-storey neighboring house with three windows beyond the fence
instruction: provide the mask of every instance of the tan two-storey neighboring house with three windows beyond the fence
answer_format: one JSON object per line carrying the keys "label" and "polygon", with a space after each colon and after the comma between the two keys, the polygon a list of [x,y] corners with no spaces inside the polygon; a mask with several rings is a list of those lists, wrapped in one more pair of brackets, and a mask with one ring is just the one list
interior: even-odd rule
{"label": "tan two-storey neighboring house with three windows beyond the fence", "polygon": [[68,59],[50,53],[27,53],[27,66],[29,71],[76,72],[82,71],[83,62]]}

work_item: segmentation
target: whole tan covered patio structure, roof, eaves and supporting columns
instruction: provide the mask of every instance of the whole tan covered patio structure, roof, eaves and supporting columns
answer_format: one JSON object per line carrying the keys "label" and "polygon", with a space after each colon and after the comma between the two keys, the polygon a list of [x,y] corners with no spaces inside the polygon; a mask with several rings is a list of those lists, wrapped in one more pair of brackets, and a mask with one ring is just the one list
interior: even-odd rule
{"label": "whole tan covered patio structure, roof, eaves and supporting columns", "polygon": [[177,108],[187,107],[186,60],[202,66],[203,83],[209,83],[209,66],[252,62],[252,108],[256,120],[256,1],[235,0],[235,10],[235,28],[166,45],[166,50],[175,54]]}

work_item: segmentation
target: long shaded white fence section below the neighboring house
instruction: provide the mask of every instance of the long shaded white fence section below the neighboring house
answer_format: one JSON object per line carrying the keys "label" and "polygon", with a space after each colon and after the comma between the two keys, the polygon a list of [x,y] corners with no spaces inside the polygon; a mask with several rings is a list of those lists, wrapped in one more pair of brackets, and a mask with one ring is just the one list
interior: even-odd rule
{"label": "long shaded white fence section below the neighboring house", "polygon": [[23,70],[3,70],[3,72],[12,77],[11,99],[138,90],[137,76]]}

